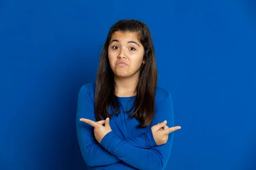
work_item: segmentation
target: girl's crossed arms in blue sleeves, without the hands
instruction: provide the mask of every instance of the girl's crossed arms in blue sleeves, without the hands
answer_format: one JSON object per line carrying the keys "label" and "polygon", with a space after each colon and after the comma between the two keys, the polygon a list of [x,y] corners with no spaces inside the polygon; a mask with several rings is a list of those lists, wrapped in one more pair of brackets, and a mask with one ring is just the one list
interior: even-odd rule
{"label": "girl's crossed arms in blue sleeves, without the hands", "polygon": [[[169,126],[173,126],[170,94],[161,101],[156,115],[150,127],[157,125],[158,122],[163,122],[163,120],[167,120]],[[120,160],[138,169],[160,170],[166,166],[172,147],[173,133],[169,134],[166,144],[157,146],[151,128],[142,136],[125,141],[120,140],[111,131],[104,136],[99,144],[94,137],[94,127],[79,121],[80,118],[96,121],[93,102],[89,91],[84,86],[79,91],[76,127],[81,153],[88,166],[104,166],[114,164]],[[138,159],[140,159],[140,163],[137,161]]]}

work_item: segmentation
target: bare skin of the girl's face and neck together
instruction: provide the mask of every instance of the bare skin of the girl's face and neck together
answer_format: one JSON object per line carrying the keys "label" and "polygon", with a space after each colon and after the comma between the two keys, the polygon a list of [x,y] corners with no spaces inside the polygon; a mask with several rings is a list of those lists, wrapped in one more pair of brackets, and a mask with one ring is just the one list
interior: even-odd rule
{"label": "bare skin of the girl's face and neck together", "polygon": [[[116,82],[116,95],[134,96],[134,88],[140,76],[144,47],[133,32],[116,31],[108,47],[108,59]],[[124,62],[126,65],[118,65]]]}

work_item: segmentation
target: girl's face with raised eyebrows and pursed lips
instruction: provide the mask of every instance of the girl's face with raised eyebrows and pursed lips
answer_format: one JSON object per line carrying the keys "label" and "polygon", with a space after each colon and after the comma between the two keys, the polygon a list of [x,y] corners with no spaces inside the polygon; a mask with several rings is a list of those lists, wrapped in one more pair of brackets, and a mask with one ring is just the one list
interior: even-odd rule
{"label": "girl's face with raised eyebrows and pursed lips", "polygon": [[144,64],[144,47],[133,32],[116,31],[108,46],[108,59],[115,77],[127,78],[140,75]]}

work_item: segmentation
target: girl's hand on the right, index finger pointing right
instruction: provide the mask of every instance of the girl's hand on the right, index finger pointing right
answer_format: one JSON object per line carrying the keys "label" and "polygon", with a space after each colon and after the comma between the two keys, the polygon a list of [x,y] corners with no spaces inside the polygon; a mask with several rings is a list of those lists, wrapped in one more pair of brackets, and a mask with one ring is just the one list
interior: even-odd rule
{"label": "girl's hand on the right, index finger pointing right", "polygon": [[168,140],[169,133],[180,129],[180,126],[168,127],[166,125],[167,121],[163,121],[151,127],[153,137],[157,145],[165,144]]}

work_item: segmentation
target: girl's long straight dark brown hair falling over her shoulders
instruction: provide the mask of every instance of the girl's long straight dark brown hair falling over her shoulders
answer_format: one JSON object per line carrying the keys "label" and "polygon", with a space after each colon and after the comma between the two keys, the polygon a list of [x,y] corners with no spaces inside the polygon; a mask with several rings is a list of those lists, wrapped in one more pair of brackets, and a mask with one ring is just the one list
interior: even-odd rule
{"label": "girl's long straight dark brown hair falling over her shoulders", "polygon": [[113,108],[113,111],[117,113],[117,115],[120,111],[119,101],[115,95],[114,74],[108,59],[108,46],[111,40],[111,35],[115,31],[137,33],[138,40],[145,50],[143,57],[145,64],[140,68],[140,77],[135,89],[136,97],[134,105],[131,110],[127,112],[131,112],[134,109],[134,113],[129,117],[135,117],[140,122],[139,127],[146,127],[150,125],[154,117],[157,66],[151,33],[148,26],[139,20],[119,20],[111,27],[108,33],[107,40],[105,41],[100,54],[96,79],[96,119],[99,121],[106,119],[107,117],[111,118],[109,107]]}

